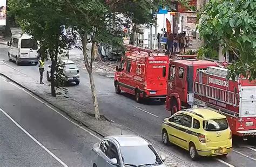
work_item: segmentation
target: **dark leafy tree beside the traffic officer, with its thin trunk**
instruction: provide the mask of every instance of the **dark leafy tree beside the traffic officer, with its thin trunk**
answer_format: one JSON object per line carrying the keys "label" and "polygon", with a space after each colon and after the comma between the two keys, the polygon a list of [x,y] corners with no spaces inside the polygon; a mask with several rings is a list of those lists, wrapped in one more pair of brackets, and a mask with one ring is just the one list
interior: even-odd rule
{"label": "dark leafy tree beside the traffic officer, with its thin trunk", "polygon": [[59,78],[56,77],[57,58],[59,54],[68,54],[64,50],[72,44],[63,33],[66,17],[62,16],[61,6],[65,4],[62,1],[9,1],[23,32],[39,41],[42,57],[51,59],[51,94],[56,97],[56,86],[62,85],[56,80]]}

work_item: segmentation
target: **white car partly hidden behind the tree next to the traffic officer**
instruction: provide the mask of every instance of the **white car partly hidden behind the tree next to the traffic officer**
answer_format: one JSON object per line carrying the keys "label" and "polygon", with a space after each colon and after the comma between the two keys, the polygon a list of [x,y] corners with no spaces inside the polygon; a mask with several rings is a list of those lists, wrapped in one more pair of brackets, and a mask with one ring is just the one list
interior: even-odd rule
{"label": "white car partly hidden behind the tree next to the traffic officer", "polygon": [[[76,85],[80,83],[80,73],[76,64],[71,60],[62,60],[65,64],[64,74],[67,82],[75,82]],[[51,66],[48,66],[46,71],[47,81],[51,80]]]}

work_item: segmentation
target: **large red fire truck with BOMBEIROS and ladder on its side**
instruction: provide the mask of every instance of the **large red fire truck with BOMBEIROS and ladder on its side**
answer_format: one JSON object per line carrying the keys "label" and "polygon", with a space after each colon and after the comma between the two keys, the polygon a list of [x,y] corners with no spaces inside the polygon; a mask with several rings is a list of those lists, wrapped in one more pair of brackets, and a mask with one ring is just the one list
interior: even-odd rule
{"label": "large red fire truck with BOMBEIROS and ladder on its side", "polygon": [[226,79],[227,69],[205,60],[170,61],[166,110],[207,106],[226,115],[234,135],[256,135],[256,81]]}

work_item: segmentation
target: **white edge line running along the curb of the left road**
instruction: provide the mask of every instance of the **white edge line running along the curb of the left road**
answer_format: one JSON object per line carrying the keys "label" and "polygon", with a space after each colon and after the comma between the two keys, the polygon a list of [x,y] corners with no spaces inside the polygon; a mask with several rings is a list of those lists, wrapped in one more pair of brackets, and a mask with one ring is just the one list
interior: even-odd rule
{"label": "white edge line running along the curb of the left road", "polygon": [[9,82],[9,83],[12,84],[12,85],[14,85],[16,88],[21,89],[21,90],[23,90],[24,92],[28,93],[28,95],[30,95],[31,97],[33,97],[33,98],[35,98],[36,100],[40,101],[42,104],[48,106],[49,108],[51,108],[51,110],[57,112],[57,113],[58,113],[59,115],[61,115],[63,118],[65,118],[66,120],[72,122],[72,124],[76,125],[77,127],[81,128],[81,129],[83,129],[83,130],[85,130],[85,132],[87,132],[87,133],[89,133],[90,135],[96,137],[98,140],[102,140],[102,139],[100,139],[100,137],[98,137],[98,136],[96,136],[95,134],[91,133],[89,130],[87,130],[87,129],[85,129],[84,127],[78,125],[76,122],[73,122],[73,121],[70,120],[69,118],[65,117],[65,115],[63,115],[62,113],[58,112],[57,110],[55,110],[55,108],[51,107],[50,105],[46,104],[43,100],[41,100],[41,99],[37,98],[36,96],[32,95],[32,93],[30,93],[30,92],[28,92],[28,91],[26,91],[26,90],[20,88],[18,85],[14,84],[14,83],[12,83],[12,82]]}

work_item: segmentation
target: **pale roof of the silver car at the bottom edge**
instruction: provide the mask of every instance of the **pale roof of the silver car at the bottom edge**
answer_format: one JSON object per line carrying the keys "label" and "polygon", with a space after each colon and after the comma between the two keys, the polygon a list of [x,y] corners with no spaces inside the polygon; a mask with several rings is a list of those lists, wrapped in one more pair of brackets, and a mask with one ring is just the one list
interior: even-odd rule
{"label": "pale roof of the silver car at the bottom edge", "polygon": [[142,137],[132,135],[108,136],[106,138],[115,141],[117,144],[119,144],[120,147],[143,146],[150,144],[146,140],[142,139]]}

